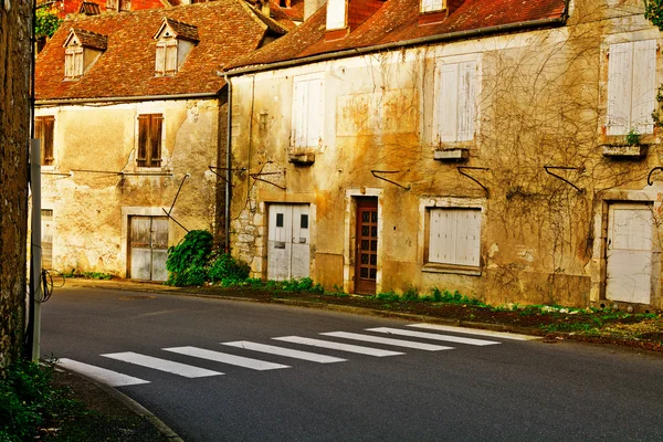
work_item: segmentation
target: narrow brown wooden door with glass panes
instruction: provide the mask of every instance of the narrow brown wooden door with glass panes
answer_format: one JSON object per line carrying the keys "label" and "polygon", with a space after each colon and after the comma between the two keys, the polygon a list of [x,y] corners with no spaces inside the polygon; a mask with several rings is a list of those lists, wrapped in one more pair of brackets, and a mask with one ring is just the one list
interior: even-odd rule
{"label": "narrow brown wooden door with glass panes", "polygon": [[376,293],[378,273],[378,200],[357,200],[357,254],[355,256],[355,292]]}

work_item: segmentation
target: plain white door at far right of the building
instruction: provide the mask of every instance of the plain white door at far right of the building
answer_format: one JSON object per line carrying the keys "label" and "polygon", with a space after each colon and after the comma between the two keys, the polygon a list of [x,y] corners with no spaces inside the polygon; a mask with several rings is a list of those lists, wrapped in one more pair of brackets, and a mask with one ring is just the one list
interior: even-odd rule
{"label": "plain white door at far right of the building", "polygon": [[606,276],[608,299],[650,304],[652,227],[651,206],[610,204]]}

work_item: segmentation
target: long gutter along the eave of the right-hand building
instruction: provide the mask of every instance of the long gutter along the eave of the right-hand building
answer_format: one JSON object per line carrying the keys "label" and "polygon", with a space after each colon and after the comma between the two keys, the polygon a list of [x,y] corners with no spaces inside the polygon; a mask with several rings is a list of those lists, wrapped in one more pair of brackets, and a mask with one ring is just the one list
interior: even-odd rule
{"label": "long gutter along the eave of the right-hand building", "polygon": [[230,71],[227,71],[225,73],[223,73],[223,76],[227,78],[229,76],[235,76],[235,75],[241,75],[241,74],[246,74],[246,73],[272,71],[272,70],[281,69],[281,67],[292,67],[292,66],[297,66],[301,64],[308,64],[308,63],[320,62],[320,61],[326,61],[326,60],[345,59],[348,56],[356,56],[356,55],[361,55],[361,54],[367,54],[367,53],[372,53],[372,52],[386,51],[386,50],[390,50],[390,49],[408,48],[408,46],[413,46],[413,45],[419,45],[419,44],[439,43],[439,42],[461,40],[461,39],[472,39],[472,38],[477,38],[477,36],[495,34],[495,33],[522,31],[522,30],[528,30],[528,29],[534,29],[534,28],[564,25],[566,23],[567,17],[568,17],[568,6],[567,6],[567,8],[565,8],[565,11],[561,14],[561,17],[557,17],[554,19],[520,21],[517,23],[501,24],[497,27],[480,28],[480,29],[473,29],[473,30],[469,30],[469,31],[456,31],[456,32],[450,32],[446,34],[421,36],[418,39],[404,40],[404,41],[399,41],[399,42],[383,43],[383,44],[377,44],[377,45],[366,46],[366,48],[348,49],[348,50],[343,50],[343,51],[337,51],[337,52],[329,52],[329,53],[325,53],[325,54],[309,55],[309,56],[305,56],[302,59],[285,60],[282,62],[274,62],[274,63],[262,64],[262,65],[257,65],[257,66],[238,67],[238,69],[232,69]]}

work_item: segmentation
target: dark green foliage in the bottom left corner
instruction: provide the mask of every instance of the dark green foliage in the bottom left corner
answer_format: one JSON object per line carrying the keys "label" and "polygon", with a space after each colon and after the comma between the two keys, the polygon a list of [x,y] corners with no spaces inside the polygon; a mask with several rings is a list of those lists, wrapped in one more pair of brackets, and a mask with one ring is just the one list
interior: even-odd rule
{"label": "dark green foliage in the bottom left corner", "polygon": [[0,375],[0,441],[33,440],[38,428],[50,422],[55,412],[81,409],[51,387],[52,366],[18,361]]}

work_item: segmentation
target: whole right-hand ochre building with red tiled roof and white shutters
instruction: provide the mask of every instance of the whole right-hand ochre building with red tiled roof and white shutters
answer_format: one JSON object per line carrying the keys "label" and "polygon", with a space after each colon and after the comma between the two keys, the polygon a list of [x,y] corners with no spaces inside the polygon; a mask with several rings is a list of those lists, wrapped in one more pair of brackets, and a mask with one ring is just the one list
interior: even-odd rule
{"label": "whole right-hand ochre building with red tiled roof and white shutters", "polygon": [[660,43],[640,0],[329,0],[227,67],[233,253],[350,293],[660,308]]}

